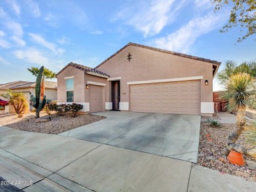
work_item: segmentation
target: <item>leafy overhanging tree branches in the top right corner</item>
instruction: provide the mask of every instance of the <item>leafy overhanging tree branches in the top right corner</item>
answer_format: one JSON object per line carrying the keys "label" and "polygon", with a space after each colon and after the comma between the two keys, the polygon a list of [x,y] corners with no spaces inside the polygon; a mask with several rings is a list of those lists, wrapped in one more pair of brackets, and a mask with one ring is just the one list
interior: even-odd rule
{"label": "leafy overhanging tree branches in the top right corner", "polygon": [[231,28],[245,28],[246,33],[238,38],[238,42],[256,33],[256,1],[255,0],[211,0],[215,5],[215,12],[227,5],[232,5],[228,23],[223,27],[221,33]]}

